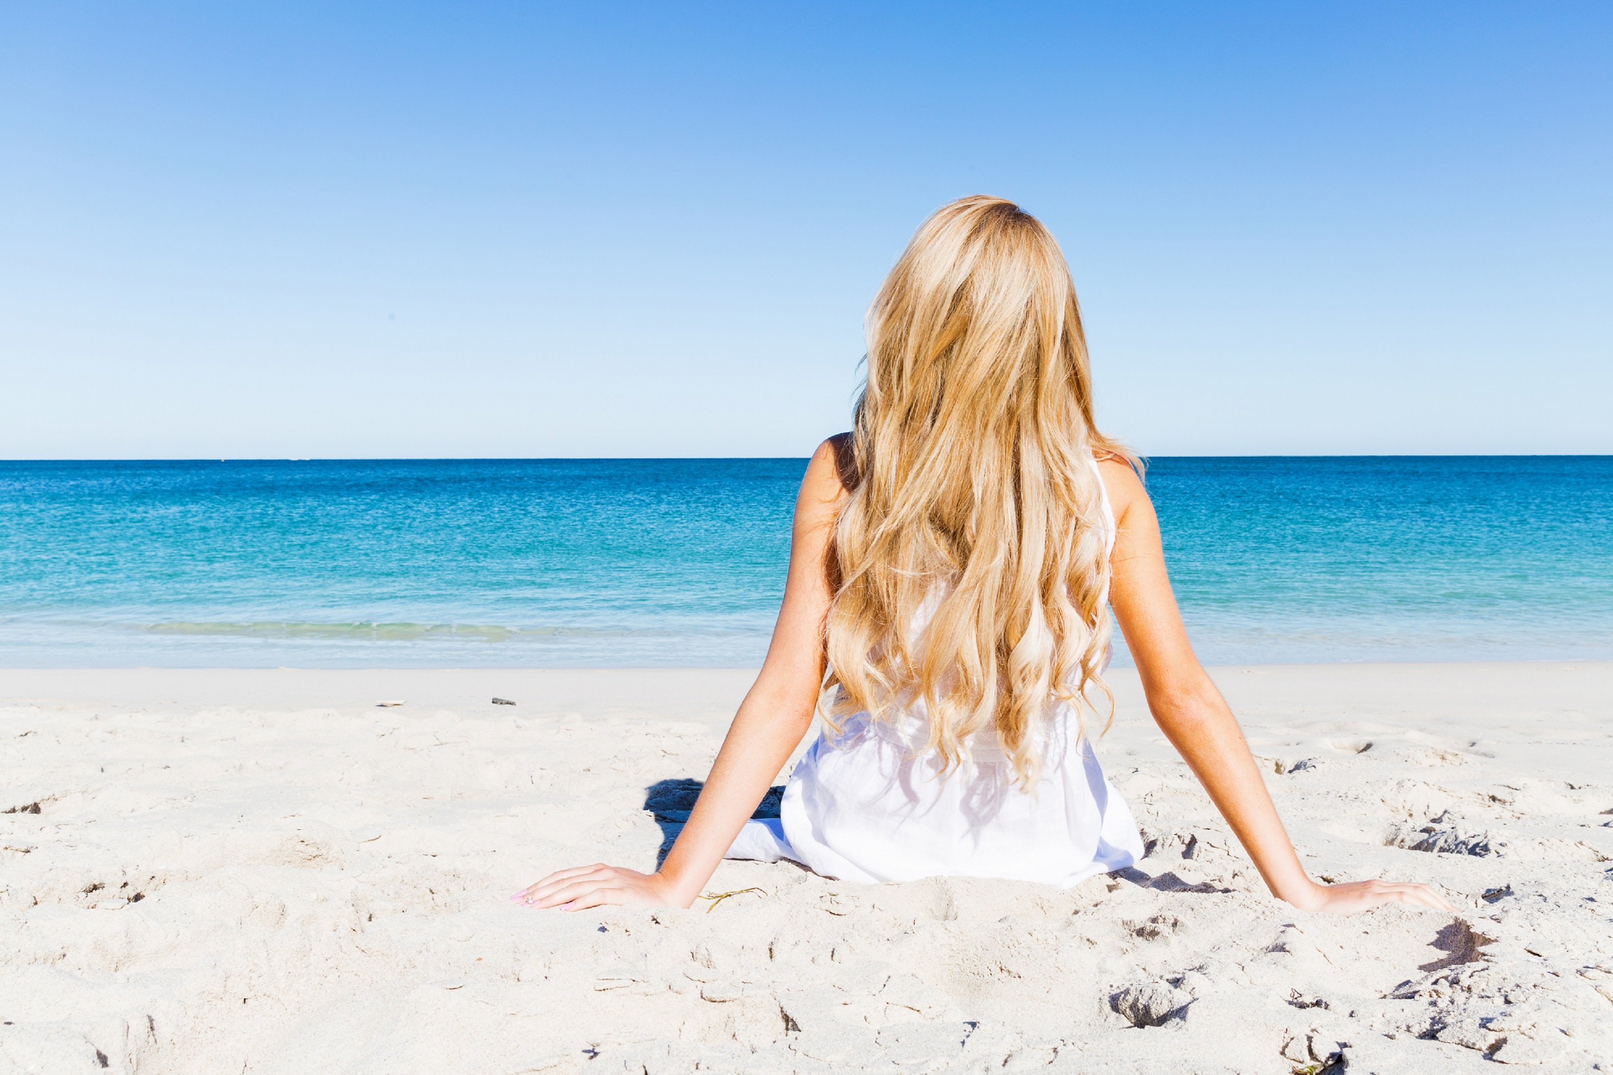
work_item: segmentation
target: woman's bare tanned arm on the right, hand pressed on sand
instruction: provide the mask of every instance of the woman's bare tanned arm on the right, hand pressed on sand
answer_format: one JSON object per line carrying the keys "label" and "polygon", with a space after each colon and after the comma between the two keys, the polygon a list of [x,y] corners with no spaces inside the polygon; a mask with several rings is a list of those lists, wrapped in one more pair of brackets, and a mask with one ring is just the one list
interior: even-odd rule
{"label": "woman's bare tanned arm on the right, hand pressed on sand", "polygon": [[1118,520],[1110,602],[1137,663],[1148,709],[1210,793],[1271,894],[1305,910],[1336,914],[1394,901],[1455,910],[1426,885],[1376,880],[1318,885],[1305,875],[1237,718],[1187,641],[1165,573],[1160,521],[1142,481],[1121,463],[1098,465]]}

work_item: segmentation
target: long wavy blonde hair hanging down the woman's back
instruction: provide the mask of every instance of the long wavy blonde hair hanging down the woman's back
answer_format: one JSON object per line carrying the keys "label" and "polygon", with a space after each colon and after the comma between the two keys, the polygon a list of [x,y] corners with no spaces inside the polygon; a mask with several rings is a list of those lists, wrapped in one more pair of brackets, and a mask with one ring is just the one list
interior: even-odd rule
{"label": "long wavy blonde hair hanging down the woman's back", "polygon": [[1139,465],[1092,425],[1053,236],[1003,199],[937,210],[868,312],[855,476],[827,563],[831,725],[923,701],[944,768],[992,726],[1031,786],[1037,726],[1058,702],[1084,712],[1095,686],[1113,712],[1094,452]]}

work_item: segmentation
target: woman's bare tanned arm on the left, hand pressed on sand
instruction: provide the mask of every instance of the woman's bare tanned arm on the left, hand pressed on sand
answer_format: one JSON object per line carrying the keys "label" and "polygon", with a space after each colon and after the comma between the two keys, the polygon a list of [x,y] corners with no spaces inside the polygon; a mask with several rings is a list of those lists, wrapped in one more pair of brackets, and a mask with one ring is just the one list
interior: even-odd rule
{"label": "woman's bare tanned arm on the left, hand pressed on sand", "polygon": [[823,684],[823,625],[829,615],[826,554],[845,499],[834,444],[806,465],[795,499],[790,571],[768,657],[734,717],[684,831],[655,873],[595,864],[550,873],[516,894],[532,907],[600,904],[687,907],[711,880],[761,796],[811,728]]}

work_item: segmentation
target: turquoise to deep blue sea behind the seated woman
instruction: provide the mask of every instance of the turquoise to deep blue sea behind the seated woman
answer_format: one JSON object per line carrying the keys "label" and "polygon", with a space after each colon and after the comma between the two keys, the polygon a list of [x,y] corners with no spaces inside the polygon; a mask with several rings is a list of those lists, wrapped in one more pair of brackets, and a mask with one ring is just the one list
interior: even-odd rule
{"label": "turquoise to deep blue sea behind the seated woman", "polygon": [[[0,463],[0,667],[755,665],[803,468]],[[1613,659],[1613,457],[1147,481],[1207,663]]]}

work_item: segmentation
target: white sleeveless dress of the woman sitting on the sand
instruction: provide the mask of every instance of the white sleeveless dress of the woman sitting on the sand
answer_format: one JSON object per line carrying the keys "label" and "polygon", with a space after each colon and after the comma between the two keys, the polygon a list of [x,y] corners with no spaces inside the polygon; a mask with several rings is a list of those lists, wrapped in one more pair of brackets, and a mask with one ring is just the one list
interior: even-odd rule
{"label": "white sleeveless dress of the woman sitting on the sand", "polygon": [[[1113,550],[1107,492],[1103,521]],[[971,739],[968,763],[944,773],[924,749],[923,704],[892,722],[857,713],[811,744],[781,817],[747,822],[727,857],[792,859],[863,883],[997,876],[1065,888],[1142,859],[1137,823],[1068,705],[1042,739],[1042,776],[1023,791],[990,730]]]}

